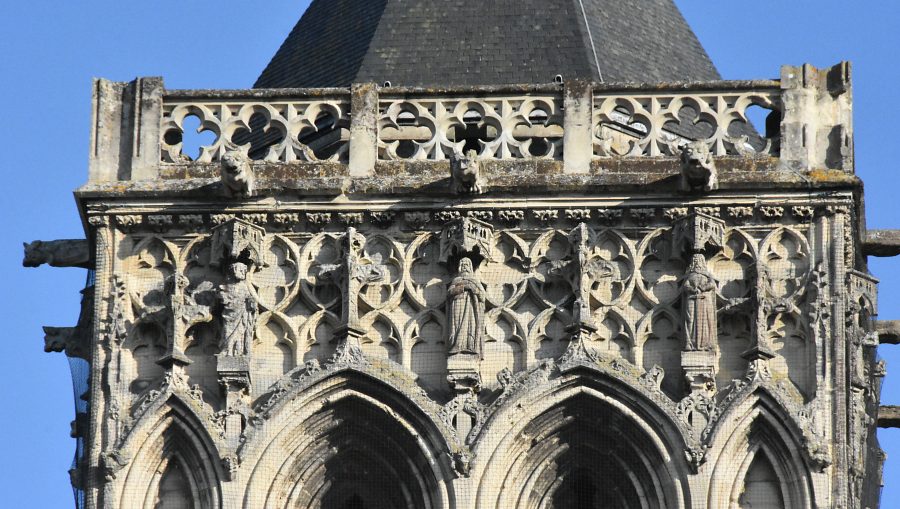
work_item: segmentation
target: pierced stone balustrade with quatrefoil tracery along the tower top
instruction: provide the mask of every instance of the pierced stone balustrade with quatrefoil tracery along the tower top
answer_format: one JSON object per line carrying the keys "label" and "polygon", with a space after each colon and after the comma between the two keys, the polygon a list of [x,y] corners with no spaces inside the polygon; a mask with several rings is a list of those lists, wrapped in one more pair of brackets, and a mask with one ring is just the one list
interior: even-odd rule
{"label": "pierced stone balustrade with quatrefoil tracery along the tower top", "polygon": [[[91,182],[155,179],[166,166],[211,163],[230,150],[266,163],[347,165],[350,176],[471,151],[598,173],[604,161],[677,156],[694,140],[714,157],[850,172],[849,91],[847,64],[785,66],[777,81],[652,85],[166,90],[159,78],[97,80]],[[191,117],[212,140],[198,154],[184,149]]]}

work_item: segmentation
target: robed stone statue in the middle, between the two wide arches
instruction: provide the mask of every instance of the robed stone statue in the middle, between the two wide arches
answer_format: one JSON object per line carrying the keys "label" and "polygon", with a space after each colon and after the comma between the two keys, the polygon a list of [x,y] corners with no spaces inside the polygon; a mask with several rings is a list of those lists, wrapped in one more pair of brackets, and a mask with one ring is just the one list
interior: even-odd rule
{"label": "robed stone statue in the middle, between the two wide arches", "polygon": [[484,288],[475,278],[472,260],[462,258],[459,274],[450,282],[447,298],[450,354],[481,354],[484,298]]}

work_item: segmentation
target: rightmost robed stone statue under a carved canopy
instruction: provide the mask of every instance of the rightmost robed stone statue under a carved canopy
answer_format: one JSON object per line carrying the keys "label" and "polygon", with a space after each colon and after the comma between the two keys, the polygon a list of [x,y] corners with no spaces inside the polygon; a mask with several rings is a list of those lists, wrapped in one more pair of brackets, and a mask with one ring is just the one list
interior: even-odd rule
{"label": "rightmost robed stone statue under a carved canopy", "polygon": [[712,350],[716,330],[716,279],[706,267],[706,258],[695,254],[681,283],[681,315],[685,349]]}

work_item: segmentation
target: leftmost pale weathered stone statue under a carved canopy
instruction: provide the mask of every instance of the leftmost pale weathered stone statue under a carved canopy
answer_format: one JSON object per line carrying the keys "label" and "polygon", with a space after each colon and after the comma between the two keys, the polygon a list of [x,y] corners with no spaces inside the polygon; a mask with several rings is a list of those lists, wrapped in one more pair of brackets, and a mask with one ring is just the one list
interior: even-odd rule
{"label": "leftmost pale weathered stone statue under a carved canopy", "polygon": [[249,355],[256,330],[256,300],[247,284],[247,265],[233,262],[219,286],[222,304],[222,355]]}

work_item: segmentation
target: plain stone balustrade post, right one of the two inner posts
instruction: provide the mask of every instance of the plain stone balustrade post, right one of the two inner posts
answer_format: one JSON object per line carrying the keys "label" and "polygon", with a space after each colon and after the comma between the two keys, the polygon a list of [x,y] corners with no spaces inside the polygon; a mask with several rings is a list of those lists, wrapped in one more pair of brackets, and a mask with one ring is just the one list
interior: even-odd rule
{"label": "plain stone balustrade post, right one of the two inner posts", "polygon": [[590,82],[569,80],[563,92],[563,168],[565,173],[589,173],[593,158],[593,87]]}

